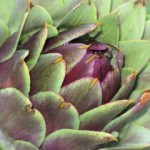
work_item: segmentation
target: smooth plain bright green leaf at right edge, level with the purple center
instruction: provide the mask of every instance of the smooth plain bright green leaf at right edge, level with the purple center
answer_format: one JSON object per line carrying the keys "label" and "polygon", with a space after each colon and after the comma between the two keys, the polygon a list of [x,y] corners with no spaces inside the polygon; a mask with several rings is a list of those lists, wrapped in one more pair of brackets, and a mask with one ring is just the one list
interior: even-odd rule
{"label": "smooth plain bright green leaf at right edge, level with the purple center", "polygon": [[125,54],[125,67],[133,68],[140,72],[150,59],[150,41],[124,41],[119,47]]}

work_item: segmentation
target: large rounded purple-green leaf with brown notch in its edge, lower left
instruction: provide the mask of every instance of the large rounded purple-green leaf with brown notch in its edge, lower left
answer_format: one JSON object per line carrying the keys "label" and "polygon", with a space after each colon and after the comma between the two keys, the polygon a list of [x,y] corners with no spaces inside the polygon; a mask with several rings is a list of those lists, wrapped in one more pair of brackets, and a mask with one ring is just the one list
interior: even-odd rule
{"label": "large rounded purple-green leaf with brown notch in its edge, lower left", "polygon": [[39,111],[31,108],[30,100],[20,91],[6,88],[0,90],[0,103],[1,132],[7,140],[21,139],[39,147],[45,137],[45,121]]}

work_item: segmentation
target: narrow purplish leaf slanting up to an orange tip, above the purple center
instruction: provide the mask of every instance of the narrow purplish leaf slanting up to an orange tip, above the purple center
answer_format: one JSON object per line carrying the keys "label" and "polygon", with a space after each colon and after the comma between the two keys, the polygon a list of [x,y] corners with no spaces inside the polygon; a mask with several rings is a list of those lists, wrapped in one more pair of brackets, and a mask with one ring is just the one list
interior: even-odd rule
{"label": "narrow purplish leaf slanting up to an orange tip, above the purple center", "polygon": [[76,39],[94,30],[97,24],[80,25],[66,32],[60,33],[57,37],[47,41],[45,51],[59,47],[67,42]]}

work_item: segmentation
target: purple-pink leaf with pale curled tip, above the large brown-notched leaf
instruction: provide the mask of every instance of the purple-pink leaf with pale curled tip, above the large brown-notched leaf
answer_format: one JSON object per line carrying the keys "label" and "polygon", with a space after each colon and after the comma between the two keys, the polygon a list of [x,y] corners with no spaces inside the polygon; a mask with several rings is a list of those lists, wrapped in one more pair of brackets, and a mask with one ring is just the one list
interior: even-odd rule
{"label": "purple-pink leaf with pale curled tip, above the large brown-notched leaf", "polygon": [[24,62],[27,55],[26,51],[17,51],[11,59],[0,64],[0,89],[14,87],[25,95],[29,94],[30,76]]}

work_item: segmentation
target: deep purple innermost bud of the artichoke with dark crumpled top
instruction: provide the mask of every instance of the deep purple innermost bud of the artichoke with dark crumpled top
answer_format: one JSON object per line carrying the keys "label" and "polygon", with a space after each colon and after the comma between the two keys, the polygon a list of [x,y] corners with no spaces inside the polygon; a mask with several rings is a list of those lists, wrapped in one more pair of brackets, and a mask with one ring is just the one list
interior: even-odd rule
{"label": "deep purple innermost bud of the artichoke with dark crumpled top", "polygon": [[110,64],[111,57],[111,49],[106,44],[91,44],[85,57],[67,74],[64,85],[84,77],[94,77],[103,81],[107,73],[113,70]]}

